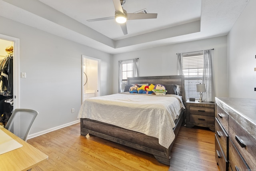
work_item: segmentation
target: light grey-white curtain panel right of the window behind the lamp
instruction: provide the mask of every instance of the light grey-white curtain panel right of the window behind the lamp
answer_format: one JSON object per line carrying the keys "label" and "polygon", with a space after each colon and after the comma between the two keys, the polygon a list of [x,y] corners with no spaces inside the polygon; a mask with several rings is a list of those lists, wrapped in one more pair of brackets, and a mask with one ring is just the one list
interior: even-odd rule
{"label": "light grey-white curtain panel right of the window behind the lamp", "polygon": [[204,50],[203,84],[206,92],[203,93],[203,101],[215,101],[214,80],[212,71],[212,50]]}

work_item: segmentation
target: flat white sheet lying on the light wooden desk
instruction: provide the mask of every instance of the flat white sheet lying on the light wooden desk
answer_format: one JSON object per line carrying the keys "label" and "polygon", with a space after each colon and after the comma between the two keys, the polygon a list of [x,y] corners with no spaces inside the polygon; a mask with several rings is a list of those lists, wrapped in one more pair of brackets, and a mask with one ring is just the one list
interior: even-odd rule
{"label": "flat white sheet lying on the light wooden desk", "polygon": [[0,155],[22,147],[20,143],[12,139],[0,129]]}

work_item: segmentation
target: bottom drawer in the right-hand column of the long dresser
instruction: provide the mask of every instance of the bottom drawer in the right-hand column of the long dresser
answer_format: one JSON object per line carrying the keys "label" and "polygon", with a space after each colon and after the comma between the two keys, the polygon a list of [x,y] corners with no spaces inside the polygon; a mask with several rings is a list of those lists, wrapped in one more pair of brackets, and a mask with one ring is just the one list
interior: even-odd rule
{"label": "bottom drawer in the right-hand column of the long dresser", "polygon": [[233,171],[249,171],[249,167],[237,151],[234,143],[229,140],[229,165]]}

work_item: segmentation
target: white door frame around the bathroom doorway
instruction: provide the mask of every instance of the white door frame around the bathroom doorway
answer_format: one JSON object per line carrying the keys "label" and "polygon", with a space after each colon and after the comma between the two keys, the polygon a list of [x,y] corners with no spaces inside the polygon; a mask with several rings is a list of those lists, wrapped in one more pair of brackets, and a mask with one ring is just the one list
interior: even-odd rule
{"label": "white door frame around the bathroom doorway", "polygon": [[100,66],[101,66],[101,60],[98,58],[93,58],[90,56],[86,56],[86,55],[82,55],[82,67],[81,67],[81,71],[82,71],[82,103],[84,101],[84,59],[89,59],[89,60],[94,60],[98,62],[98,95],[100,96]]}

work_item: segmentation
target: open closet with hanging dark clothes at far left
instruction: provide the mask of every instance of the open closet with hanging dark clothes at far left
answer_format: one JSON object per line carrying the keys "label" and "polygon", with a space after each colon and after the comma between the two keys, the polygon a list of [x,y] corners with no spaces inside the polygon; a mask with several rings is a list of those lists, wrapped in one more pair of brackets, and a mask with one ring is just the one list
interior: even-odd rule
{"label": "open closet with hanging dark clothes at far left", "polygon": [[[3,40],[1,40],[2,42]],[[13,42],[0,51],[0,125],[5,126],[13,111]]]}

